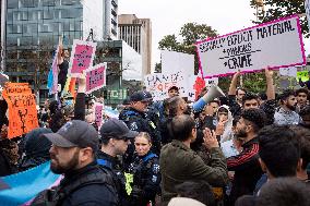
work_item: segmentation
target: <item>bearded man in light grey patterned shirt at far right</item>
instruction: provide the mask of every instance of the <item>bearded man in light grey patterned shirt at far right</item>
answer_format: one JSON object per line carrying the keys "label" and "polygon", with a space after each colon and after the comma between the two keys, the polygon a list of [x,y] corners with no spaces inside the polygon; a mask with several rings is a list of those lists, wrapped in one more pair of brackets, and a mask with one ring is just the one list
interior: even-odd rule
{"label": "bearded man in light grey patterned shirt at far right", "polygon": [[285,90],[281,95],[281,107],[274,113],[274,123],[278,125],[299,124],[301,118],[295,111],[297,106],[296,93]]}

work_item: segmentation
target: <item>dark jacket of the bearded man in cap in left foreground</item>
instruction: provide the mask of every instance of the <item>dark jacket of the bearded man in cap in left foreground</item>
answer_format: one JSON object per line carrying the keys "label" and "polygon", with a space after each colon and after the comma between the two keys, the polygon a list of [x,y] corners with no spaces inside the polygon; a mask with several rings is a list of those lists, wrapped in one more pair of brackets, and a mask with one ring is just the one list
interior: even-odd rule
{"label": "dark jacket of the bearded man in cap in left foreground", "polygon": [[116,206],[111,177],[96,162],[64,174],[60,185],[41,192],[32,205]]}

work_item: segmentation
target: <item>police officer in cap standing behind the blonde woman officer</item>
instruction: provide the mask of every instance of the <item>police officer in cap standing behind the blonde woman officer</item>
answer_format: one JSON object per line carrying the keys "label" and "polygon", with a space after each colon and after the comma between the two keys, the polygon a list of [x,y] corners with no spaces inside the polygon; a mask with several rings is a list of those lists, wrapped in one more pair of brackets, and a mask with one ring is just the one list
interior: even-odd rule
{"label": "police officer in cap standing behind the blonde woman officer", "polygon": [[152,122],[146,114],[150,98],[145,92],[135,92],[130,96],[131,105],[129,109],[123,113],[121,120],[132,131],[147,132],[152,138],[152,150],[155,154],[160,152],[160,133],[156,129],[154,122]]}

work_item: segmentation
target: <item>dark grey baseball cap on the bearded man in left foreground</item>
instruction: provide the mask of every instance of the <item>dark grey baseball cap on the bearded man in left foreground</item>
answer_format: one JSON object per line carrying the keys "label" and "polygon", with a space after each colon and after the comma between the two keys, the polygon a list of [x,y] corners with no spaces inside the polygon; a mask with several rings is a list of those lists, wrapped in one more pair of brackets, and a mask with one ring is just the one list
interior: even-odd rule
{"label": "dark grey baseball cap on the bearded man in left foreground", "polygon": [[44,135],[59,147],[92,147],[96,152],[99,145],[98,133],[95,128],[81,120],[67,122],[57,133]]}

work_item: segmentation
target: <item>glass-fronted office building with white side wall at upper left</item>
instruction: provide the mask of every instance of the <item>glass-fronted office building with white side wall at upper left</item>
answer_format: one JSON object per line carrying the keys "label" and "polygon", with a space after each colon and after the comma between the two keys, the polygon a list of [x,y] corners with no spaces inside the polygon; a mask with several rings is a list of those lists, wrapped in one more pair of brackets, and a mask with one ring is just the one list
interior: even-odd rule
{"label": "glass-fronted office building with white side wall at upper left", "polygon": [[[117,0],[4,1],[5,73],[12,82],[39,84],[40,89],[46,89],[46,82],[37,80],[47,78],[59,37],[70,49],[73,39],[103,40],[107,29],[115,29],[105,25],[107,20],[117,22]],[[108,8],[111,11],[106,13]]]}

